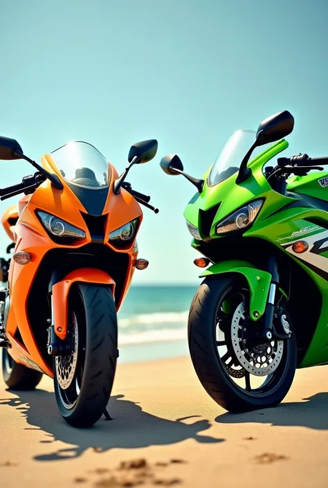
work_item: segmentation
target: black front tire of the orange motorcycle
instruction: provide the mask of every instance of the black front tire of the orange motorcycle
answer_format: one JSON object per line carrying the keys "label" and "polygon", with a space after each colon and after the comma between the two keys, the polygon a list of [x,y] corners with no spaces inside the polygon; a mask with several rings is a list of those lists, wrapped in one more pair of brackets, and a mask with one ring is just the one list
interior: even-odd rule
{"label": "black front tire of the orange motorcycle", "polygon": [[71,314],[75,314],[78,324],[78,359],[72,384],[64,389],[56,370],[56,360],[62,359],[55,358],[55,397],[68,424],[91,427],[104,413],[116,372],[118,325],[111,290],[95,284],[73,284]]}

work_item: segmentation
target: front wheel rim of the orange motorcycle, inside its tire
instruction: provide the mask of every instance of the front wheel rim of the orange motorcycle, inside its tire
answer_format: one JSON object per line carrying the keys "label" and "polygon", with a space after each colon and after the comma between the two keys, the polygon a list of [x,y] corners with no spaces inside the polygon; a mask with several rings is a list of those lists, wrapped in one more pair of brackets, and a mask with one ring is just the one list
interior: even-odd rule
{"label": "front wheel rim of the orange motorcycle, inside its tire", "polygon": [[[86,324],[84,305],[80,294],[70,300],[68,335],[73,344],[73,353],[55,358],[55,374],[58,392],[64,408],[71,410],[78,402],[86,350]],[[74,360],[75,359],[75,360]]]}

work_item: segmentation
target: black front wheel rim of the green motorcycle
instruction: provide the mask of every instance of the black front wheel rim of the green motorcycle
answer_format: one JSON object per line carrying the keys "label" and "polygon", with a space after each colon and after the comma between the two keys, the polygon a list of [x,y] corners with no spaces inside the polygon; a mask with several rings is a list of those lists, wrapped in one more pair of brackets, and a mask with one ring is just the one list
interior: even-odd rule
{"label": "black front wheel rim of the green motorcycle", "polygon": [[[282,297],[280,296],[278,298],[281,302]],[[230,303],[230,310],[228,312],[224,311],[223,306],[224,302],[227,302],[227,300]],[[230,287],[228,290],[226,290],[224,296],[221,297],[215,315],[213,334],[215,350],[217,351],[217,358],[223,367],[224,374],[226,374],[226,377],[235,388],[242,390],[245,395],[250,397],[265,397],[271,395],[273,392],[275,392],[275,390],[280,388],[282,381],[284,381],[288,356],[290,354],[289,341],[284,342],[280,361],[277,366],[273,366],[273,368],[276,368],[273,370],[273,372],[265,376],[256,377],[257,375],[246,370],[241,361],[239,361],[233,348],[233,338],[231,336],[233,314],[242,302],[244,302],[245,309],[248,310],[249,293],[247,289],[242,287]],[[246,329],[246,333],[247,328],[251,326],[252,332],[254,331],[253,333],[256,336],[256,330],[258,327],[253,321],[252,323],[247,323],[247,320],[249,320],[249,318],[246,319],[245,327],[242,327],[242,332],[244,332]],[[256,347],[255,342],[256,341],[254,340],[253,347]],[[273,352],[275,352],[275,347],[277,349],[277,346],[273,345],[274,342],[275,341],[268,341],[268,343],[271,343],[271,347],[274,350]],[[265,343],[262,343],[262,349],[259,348],[257,351],[265,351],[264,345]],[[268,356],[267,350],[268,347],[266,348],[266,356]]]}

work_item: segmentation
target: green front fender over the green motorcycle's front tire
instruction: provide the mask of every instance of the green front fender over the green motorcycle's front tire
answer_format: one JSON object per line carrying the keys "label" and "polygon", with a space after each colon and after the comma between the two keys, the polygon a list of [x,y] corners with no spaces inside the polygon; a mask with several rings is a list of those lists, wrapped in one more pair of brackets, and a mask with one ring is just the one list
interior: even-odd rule
{"label": "green front fender over the green motorcycle's front tire", "polygon": [[253,264],[242,260],[230,260],[212,264],[199,278],[220,275],[224,273],[239,273],[246,278],[250,291],[250,318],[259,320],[264,314],[268,291],[271,284],[271,274],[257,269]]}

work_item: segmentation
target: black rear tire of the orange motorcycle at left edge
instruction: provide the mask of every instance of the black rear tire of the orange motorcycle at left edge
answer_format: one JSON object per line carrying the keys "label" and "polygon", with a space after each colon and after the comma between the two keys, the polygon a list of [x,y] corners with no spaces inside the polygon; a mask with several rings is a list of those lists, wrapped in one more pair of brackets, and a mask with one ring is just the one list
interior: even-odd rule
{"label": "black rear tire of the orange motorcycle at left edge", "polygon": [[16,363],[6,349],[2,351],[2,375],[8,388],[14,391],[35,390],[43,376],[42,372]]}

